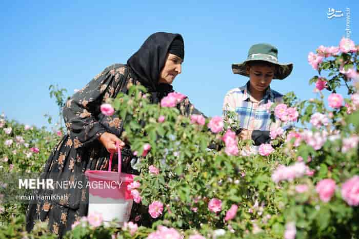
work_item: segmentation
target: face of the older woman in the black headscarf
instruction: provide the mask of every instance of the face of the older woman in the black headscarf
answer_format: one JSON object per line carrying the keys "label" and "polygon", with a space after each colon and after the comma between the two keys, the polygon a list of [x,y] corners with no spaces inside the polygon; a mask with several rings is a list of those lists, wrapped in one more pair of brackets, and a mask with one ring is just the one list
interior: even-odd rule
{"label": "face of the older woman in the black headscarf", "polygon": [[181,74],[183,60],[174,54],[167,54],[165,66],[159,73],[159,83],[172,84],[177,74]]}

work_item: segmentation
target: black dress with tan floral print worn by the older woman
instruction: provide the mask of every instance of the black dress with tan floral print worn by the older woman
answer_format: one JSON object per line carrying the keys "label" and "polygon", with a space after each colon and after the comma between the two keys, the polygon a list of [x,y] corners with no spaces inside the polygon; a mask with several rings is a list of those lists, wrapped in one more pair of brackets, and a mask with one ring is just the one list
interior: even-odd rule
{"label": "black dress with tan floral print worn by the older woman", "polygon": [[[127,65],[114,64],[96,75],[83,89],[76,92],[63,109],[67,134],[53,149],[45,164],[42,177],[56,175],[59,181],[86,181],[86,170],[107,170],[109,153],[97,140],[104,132],[111,132],[121,138],[123,122],[113,115],[101,113],[100,106],[106,99],[116,97],[119,92],[127,92],[128,83],[138,84],[135,74]],[[168,92],[167,92],[168,94]],[[166,94],[162,94],[161,97]],[[152,102],[159,102],[161,98],[154,98]],[[201,113],[184,99],[178,108],[182,113]],[[139,174],[131,167],[134,156],[130,147],[122,150],[122,172]],[[114,160],[117,158],[114,156]],[[117,171],[116,160],[112,164],[112,171]],[[39,189],[36,193],[40,199],[33,200],[28,207],[26,221],[27,230],[32,230],[37,221],[48,223],[49,230],[62,237],[71,225],[79,221],[88,211],[88,189]],[[64,195],[62,198],[47,200],[44,195]],[[45,199],[43,199],[45,198]],[[49,197],[50,198],[50,197]],[[133,204],[130,220],[136,218],[139,225],[151,224],[147,210],[138,204]]]}

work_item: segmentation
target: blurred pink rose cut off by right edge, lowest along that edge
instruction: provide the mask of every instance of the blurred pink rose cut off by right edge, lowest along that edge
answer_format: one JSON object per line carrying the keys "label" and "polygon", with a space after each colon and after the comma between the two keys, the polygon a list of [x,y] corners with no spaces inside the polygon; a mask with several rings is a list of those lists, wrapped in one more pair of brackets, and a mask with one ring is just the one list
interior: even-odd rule
{"label": "blurred pink rose cut off by right edge, lowest along that edge", "polygon": [[350,206],[359,206],[359,176],[355,175],[342,185],[342,197]]}

